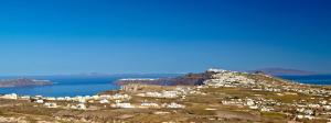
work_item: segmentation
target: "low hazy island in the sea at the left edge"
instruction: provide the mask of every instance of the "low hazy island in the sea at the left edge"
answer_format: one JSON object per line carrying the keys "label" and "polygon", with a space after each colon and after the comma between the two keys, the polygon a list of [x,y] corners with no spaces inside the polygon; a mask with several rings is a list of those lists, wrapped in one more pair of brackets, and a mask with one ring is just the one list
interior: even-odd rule
{"label": "low hazy island in the sea at the left edge", "polygon": [[35,79],[2,79],[0,80],[0,88],[3,87],[28,87],[28,86],[47,86],[53,85],[50,80],[35,80]]}

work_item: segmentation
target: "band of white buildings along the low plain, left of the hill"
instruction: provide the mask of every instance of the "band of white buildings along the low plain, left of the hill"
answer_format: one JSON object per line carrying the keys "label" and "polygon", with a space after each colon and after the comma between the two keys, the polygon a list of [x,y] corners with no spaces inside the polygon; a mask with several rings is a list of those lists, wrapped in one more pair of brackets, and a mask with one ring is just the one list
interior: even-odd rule
{"label": "band of white buildings along the low plain, left of the hill", "polygon": [[[154,98],[178,98],[180,93],[183,93],[181,88],[175,89],[175,91],[162,91],[159,92],[147,92],[143,93],[143,97],[154,97]],[[26,99],[31,100],[34,103],[43,104],[43,107],[46,108],[63,108],[63,109],[74,109],[74,110],[88,110],[87,103],[100,103],[100,104],[109,104],[111,108],[124,108],[124,109],[130,109],[130,108],[168,108],[168,109],[181,109],[185,108],[183,104],[178,104],[175,102],[172,103],[163,103],[158,104],[153,102],[142,102],[141,104],[131,104],[129,100],[131,99],[128,94],[104,94],[104,96],[85,96],[85,97],[58,97],[58,98],[52,98],[52,97],[19,97],[15,93],[11,94],[4,94],[1,96],[2,99],[13,99],[13,100],[20,100],[20,99]],[[56,101],[66,101],[66,102],[73,102],[67,103],[66,107],[57,105]]]}

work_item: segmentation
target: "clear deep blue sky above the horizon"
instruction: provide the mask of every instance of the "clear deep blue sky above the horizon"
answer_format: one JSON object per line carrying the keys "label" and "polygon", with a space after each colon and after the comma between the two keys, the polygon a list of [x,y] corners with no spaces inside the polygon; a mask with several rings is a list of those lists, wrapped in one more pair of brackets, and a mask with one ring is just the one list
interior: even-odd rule
{"label": "clear deep blue sky above the horizon", "polygon": [[331,72],[330,0],[1,0],[0,75]]}

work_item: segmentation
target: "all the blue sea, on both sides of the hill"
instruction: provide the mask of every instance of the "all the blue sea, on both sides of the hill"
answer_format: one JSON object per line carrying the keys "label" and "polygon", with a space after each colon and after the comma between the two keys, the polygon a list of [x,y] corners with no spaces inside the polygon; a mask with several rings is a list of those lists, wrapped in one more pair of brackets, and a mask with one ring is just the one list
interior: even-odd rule
{"label": "all the blue sea, on both sides of the hill", "polygon": [[[44,96],[44,97],[75,97],[94,96],[107,90],[117,90],[120,87],[116,80],[122,78],[164,78],[175,77],[175,74],[164,75],[120,75],[120,76],[36,76],[24,77],[41,80],[51,80],[51,86],[0,88],[0,94],[18,93],[20,96]],[[317,76],[278,76],[282,79],[292,80],[301,83],[331,85],[331,75]],[[18,77],[0,77],[10,79]]]}

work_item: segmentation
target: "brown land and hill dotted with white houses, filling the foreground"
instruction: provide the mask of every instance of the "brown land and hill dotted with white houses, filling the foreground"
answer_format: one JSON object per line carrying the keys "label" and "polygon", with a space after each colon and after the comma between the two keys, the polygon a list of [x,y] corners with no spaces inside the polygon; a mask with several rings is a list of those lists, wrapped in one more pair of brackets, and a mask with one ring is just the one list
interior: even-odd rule
{"label": "brown land and hill dotted with white houses, filling the foreground", "polygon": [[120,90],[97,96],[4,94],[0,97],[0,122],[331,123],[331,87],[328,86],[222,69],[175,80],[192,83],[145,85],[143,81],[154,83],[154,79],[138,79],[139,82],[121,81]]}

